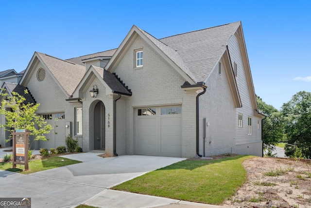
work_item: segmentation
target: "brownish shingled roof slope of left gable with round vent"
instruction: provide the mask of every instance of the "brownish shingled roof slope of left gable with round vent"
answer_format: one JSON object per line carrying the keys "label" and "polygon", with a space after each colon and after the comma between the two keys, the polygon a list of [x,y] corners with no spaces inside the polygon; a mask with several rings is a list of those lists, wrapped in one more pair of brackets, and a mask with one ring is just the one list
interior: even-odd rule
{"label": "brownish shingled roof slope of left gable with round vent", "polygon": [[36,52],[68,95],[72,95],[83,78],[84,66]]}

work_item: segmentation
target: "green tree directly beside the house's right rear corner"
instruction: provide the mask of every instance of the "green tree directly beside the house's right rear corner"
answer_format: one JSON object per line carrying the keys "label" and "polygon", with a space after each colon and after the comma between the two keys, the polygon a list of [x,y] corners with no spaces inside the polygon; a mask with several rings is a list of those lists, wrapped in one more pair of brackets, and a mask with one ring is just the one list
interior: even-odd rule
{"label": "green tree directly beside the house's right rear corner", "polygon": [[262,121],[263,148],[272,151],[284,136],[283,119],[276,108],[263,102],[258,95],[256,97],[259,110],[267,115]]}

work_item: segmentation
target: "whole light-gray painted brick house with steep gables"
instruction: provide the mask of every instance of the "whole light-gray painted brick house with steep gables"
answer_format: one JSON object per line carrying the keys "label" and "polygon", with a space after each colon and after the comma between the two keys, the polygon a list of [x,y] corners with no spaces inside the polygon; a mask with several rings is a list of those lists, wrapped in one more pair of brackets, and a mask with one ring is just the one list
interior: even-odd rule
{"label": "whole light-gray painted brick house with steep gables", "polygon": [[71,134],[110,156],[262,156],[241,21],[161,39],[134,25],[118,49],[67,60],[35,52],[19,84],[57,132],[32,148]]}

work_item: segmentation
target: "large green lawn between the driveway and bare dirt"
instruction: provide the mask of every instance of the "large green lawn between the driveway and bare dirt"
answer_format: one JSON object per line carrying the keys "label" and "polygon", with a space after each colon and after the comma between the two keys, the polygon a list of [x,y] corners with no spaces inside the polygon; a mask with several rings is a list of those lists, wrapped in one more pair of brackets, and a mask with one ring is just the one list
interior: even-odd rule
{"label": "large green lawn between the driveway and bare dirt", "polygon": [[253,156],[184,160],[114,187],[116,190],[207,204],[222,204],[246,180],[242,162]]}

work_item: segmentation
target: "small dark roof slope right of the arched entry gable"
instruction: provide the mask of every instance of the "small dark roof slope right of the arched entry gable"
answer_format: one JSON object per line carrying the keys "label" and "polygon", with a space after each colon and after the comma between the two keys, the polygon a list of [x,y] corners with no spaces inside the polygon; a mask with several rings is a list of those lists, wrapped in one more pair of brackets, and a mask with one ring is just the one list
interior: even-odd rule
{"label": "small dark roof slope right of the arched entry gable", "polygon": [[111,88],[114,93],[120,93],[122,95],[132,95],[131,90],[129,90],[121,81],[118,76],[104,70],[103,68],[92,66],[96,72],[102,76],[104,82]]}

